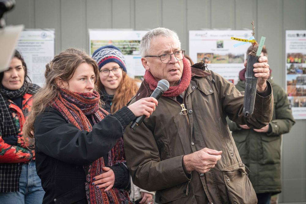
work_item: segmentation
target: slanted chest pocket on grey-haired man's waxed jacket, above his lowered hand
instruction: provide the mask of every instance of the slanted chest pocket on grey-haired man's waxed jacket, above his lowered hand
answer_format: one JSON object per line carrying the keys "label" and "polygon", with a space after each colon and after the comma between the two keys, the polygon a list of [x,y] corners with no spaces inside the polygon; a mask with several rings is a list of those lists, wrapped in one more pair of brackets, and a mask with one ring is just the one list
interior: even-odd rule
{"label": "slanted chest pocket on grey-haired man's waxed jacket, above his lowered hand", "polygon": [[226,144],[226,148],[228,153],[230,154],[231,157],[234,156],[234,146],[233,146],[233,142],[230,138],[231,134],[230,134],[230,129],[228,127],[228,125],[225,125],[222,122],[222,117],[220,117],[217,121],[216,121],[216,125],[217,125],[217,129],[218,129],[218,133],[220,135],[220,137],[222,138],[222,141],[225,142]]}

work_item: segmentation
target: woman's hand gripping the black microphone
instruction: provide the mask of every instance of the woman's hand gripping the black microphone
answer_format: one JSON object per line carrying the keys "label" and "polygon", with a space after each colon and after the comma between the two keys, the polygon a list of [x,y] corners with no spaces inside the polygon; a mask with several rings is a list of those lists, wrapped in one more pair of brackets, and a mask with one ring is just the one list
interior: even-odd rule
{"label": "woman's hand gripping the black microphone", "polygon": [[135,103],[129,105],[128,108],[136,117],[145,115],[148,118],[155,111],[155,105],[158,105],[157,100],[153,97],[147,97],[137,100]]}

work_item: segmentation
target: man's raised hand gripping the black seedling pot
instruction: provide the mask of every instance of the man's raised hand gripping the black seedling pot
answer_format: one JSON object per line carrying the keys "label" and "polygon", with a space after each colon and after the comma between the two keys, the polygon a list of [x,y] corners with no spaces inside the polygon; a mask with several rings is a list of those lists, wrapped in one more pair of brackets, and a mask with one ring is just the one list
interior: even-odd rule
{"label": "man's raised hand gripping the black seedling pot", "polygon": [[[255,77],[258,78],[257,80],[257,91],[263,92],[267,87],[267,79],[270,76],[268,58],[266,56],[260,57],[258,59],[258,63],[254,64],[253,71],[255,72]],[[244,67],[247,66],[247,62],[244,62]]]}

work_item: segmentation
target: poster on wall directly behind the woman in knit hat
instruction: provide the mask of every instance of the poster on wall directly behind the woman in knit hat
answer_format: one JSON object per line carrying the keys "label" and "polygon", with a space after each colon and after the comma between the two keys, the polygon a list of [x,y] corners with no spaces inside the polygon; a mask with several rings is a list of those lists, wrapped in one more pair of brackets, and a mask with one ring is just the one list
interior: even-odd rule
{"label": "poster on wall directly behind the woman in knit hat", "polygon": [[89,29],[90,55],[102,46],[118,47],[125,58],[127,73],[143,80],[145,69],[141,64],[139,43],[147,31]]}

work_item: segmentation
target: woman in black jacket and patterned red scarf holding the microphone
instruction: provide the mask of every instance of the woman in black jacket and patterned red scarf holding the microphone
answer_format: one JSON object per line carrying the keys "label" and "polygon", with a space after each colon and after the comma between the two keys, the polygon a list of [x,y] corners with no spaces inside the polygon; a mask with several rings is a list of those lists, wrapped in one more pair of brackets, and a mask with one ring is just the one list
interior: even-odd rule
{"label": "woman in black jacket and patterned red scarf holding the microphone", "polygon": [[45,77],[24,132],[29,141],[35,137],[43,203],[130,203],[122,134],[136,116],[149,117],[157,100],[143,98],[108,114],[94,86],[97,63],[73,48],[46,65]]}

